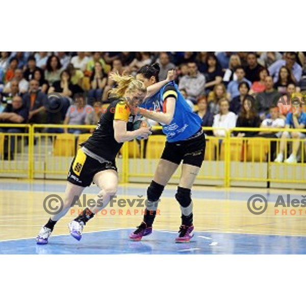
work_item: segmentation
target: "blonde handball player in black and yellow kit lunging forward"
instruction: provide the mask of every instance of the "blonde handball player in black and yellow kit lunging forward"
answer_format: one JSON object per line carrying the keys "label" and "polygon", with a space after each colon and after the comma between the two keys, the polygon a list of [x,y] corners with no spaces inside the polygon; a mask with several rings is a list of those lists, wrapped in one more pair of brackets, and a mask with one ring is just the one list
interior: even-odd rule
{"label": "blonde handball player in black and yellow kit lunging forward", "polygon": [[132,114],[131,109],[140,105],[145,98],[154,95],[167,82],[173,80],[174,75],[169,74],[167,80],[147,88],[141,81],[135,80],[132,75],[120,76],[114,73],[111,78],[117,83],[117,87],[111,91],[116,100],[101,115],[90,138],[81,144],[68,172],[63,208],[42,226],[36,238],[37,244],[48,243],[55,224],[79,199],[84,188],[94,182],[100,188],[100,192],[94,198],[95,205],[90,210],[86,208],[68,224],[71,236],[81,240],[86,222],[104,209],[117,192],[118,173],[115,158],[123,142],[139,137],[146,139],[151,134],[149,127],[140,127],[133,131],[135,115]]}

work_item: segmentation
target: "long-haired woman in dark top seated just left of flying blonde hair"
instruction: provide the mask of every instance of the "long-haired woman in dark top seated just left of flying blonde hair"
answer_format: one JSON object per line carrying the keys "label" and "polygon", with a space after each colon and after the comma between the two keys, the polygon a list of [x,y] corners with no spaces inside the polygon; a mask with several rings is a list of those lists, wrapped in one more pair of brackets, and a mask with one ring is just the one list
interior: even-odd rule
{"label": "long-haired woman in dark top seated just left of flying blonde hair", "polygon": [[103,90],[107,84],[107,75],[103,71],[103,67],[100,62],[95,62],[94,68],[90,77],[90,90],[88,97],[92,101],[100,101]]}

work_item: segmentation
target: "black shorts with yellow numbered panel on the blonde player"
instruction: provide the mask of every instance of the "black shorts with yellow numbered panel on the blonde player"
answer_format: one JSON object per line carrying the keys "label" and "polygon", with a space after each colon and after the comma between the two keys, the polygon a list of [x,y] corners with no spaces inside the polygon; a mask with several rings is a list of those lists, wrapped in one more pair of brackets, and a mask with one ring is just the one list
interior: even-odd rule
{"label": "black shorts with yellow numbered panel on the blonde player", "polygon": [[67,181],[74,185],[88,187],[97,172],[108,169],[118,171],[115,161],[101,163],[86,155],[82,149],[79,149],[71,163]]}

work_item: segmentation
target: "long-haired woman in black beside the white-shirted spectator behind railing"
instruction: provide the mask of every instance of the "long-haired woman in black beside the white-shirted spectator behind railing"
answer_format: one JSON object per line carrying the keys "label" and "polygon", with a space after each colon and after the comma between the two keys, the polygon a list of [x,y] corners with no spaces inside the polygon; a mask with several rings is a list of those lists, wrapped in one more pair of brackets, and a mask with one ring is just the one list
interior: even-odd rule
{"label": "long-haired woman in black beside the white-shirted spectator behind railing", "polygon": [[[261,120],[254,108],[254,98],[245,97],[243,100],[243,107],[237,118],[236,127],[259,127]],[[234,132],[237,137],[253,137],[258,134],[258,132],[245,131],[245,132]]]}

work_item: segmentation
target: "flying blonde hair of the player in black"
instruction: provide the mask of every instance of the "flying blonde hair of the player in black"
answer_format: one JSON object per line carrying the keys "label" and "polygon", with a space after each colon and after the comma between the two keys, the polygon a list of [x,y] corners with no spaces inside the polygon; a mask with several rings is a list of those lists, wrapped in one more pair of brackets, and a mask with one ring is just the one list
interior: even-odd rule
{"label": "flying blonde hair of the player in black", "polygon": [[117,87],[110,90],[112,97],[123,97],[125,92],[146,91],[141,81],[135,80],[133,75],[120,75],[118,72],[110,75],[111,80],[117,83]]}

